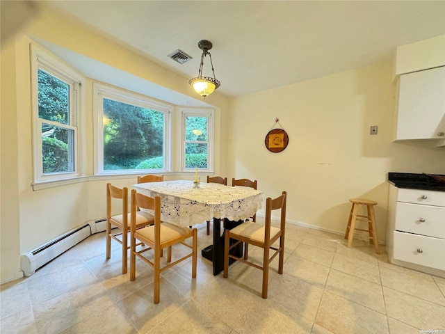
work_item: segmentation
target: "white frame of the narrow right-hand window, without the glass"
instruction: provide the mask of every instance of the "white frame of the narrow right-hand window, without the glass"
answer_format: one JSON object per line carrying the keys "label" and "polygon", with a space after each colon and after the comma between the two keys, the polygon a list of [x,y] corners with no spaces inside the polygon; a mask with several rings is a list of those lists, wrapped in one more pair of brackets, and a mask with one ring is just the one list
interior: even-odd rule
{"label": "white frame of the narrow right-hand window, without the glass", "polygon": [[[186,140],[186,118],[187,116],[207,117],[207,168],[198,168],[200,172],[212,173],[213,172],[213,150],[215,145],[214,140],[214,122],[215,111],[208,108],[180,108],[181,113],[181,171],[190,172],[195,170],[194,167],[186,168],[186,143],[195,143],[196,141]],[[200,143],[204,143],[200,141]]]}

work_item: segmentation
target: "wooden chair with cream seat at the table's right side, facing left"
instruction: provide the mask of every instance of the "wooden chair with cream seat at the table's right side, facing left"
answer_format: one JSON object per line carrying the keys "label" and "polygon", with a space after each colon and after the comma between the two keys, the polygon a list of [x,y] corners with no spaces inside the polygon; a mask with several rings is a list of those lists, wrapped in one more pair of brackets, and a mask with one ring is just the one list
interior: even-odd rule
{"label": "wooden chair with cream seat at the table's right side, facing left", "polygon": [[[281,209],[280,228],[275,228],[270,225],[272,211],[277,209]],[[283,273],[285,225],[286,191],[283,191],[282,195],[275,199],[270,197],[266,199],[266,221],[264,225],[253,223],[252,221],[245,221],[232,230],[225,230],[224,278],[227,278],[229,275],[229,257],[245,264],[249,264],[257,269],[261,269],[263,271],[263,286],[261,296],[264,299],[267,299],[269,264],[278,254],[280,255],[278,262],[278,273]],[[229,246],[229,239],[235,239],[237,241]],[[277,239],[280,239],[280,246],[278,248],[272,246]],[[264,256],[262,267],[229,253],[229,250],[234,248],[240,242],[263,248]],[[272,256],[270,256],[270,249],[275,250]]]}

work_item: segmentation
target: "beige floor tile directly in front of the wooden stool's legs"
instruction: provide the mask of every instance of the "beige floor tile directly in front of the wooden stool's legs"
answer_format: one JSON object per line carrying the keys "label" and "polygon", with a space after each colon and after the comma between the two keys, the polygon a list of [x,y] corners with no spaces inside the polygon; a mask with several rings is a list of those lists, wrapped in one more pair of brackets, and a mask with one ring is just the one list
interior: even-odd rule
{"label": "beige floor tile directly in front of the wooden stool's legs", "polygon": [[369,280],[372,283],[380,284],[380,271],[377,262],[374,261],[368,262],[355,259],[354,257],[335,254],[331,268]]}

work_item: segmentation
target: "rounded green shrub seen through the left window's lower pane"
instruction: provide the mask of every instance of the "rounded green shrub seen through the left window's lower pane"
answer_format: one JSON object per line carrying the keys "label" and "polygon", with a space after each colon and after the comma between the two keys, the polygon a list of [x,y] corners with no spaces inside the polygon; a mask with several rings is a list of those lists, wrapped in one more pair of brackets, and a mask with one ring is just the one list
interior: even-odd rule
{"label": "rounded green shrub seen through the left window's lower pane", "polygon": [[56,138],[42,137],[43,173],[68,171],[68,145]]}

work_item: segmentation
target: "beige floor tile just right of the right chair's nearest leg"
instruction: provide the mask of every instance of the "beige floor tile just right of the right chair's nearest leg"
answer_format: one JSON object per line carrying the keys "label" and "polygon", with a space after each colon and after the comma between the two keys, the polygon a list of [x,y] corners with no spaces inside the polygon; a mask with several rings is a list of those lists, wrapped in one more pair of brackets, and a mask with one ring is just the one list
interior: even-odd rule
{"label": "beige floor tile just right of the right chair's nearest leg", "polygon": [[268,299],[314,321],[322,294],[323,289],[283,273],[270,281]]}

